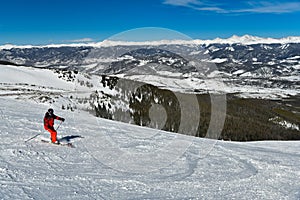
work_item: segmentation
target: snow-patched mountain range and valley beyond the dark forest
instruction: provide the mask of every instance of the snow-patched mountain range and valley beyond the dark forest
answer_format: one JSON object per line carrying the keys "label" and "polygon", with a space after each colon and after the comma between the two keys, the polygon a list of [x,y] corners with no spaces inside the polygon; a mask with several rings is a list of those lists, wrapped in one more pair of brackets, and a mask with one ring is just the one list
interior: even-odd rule
{"label": "snow-patched mountain range and valley beyond the dark forest", "polygon": [[[245,93],[244,86],[257,86],[270,96],[268,91],[284,89],[276,93],[272,91],[271,96],[274,97],[295,94],[299,90],[299,52],[300,37],[272,39],[245,35],[206,41],[106,40],[90,44],[4,45],[0,47],[0,60],[2,63],[77,70],[98,75],[126,74],[129,69],[135,68],[147,75],[162,76],[170,72],[173,77],[191,78],[196,70],[196,76],[200,73],[202,78],[222,77],[222,81],[229,86],[224,89],[227,93]],[[201,66],[195,68],[195,61]],[[177,67],[174,68],[175,65]],[[130,78],[128,74],[127,78]],[[201,87],[195,89],[201,91]],[[249,93],[257,91],[257,87],[248,90]],[[266,91],[266,88],[269,90]]]}

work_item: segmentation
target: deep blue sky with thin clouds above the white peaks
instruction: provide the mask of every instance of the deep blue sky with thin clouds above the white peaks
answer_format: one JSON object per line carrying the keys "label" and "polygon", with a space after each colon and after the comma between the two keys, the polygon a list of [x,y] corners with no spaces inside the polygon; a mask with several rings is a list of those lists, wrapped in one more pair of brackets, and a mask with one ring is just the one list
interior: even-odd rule
{"label": "deep blue sky with thin clouds above the white peaks", "polygon": [[161,27],[194,39],[300,36],[299,0],[3,0],[0,44],[102,41]]}

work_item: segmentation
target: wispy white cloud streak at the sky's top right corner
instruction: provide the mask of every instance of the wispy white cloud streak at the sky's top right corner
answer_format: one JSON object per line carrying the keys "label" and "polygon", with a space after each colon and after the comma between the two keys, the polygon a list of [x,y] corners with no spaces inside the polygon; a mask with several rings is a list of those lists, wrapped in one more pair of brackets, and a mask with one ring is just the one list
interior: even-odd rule
{"label": "wispy white cloud streak at the sky's top right corner", "polygon": [[183,6],[199,11],[215,13],[292,13],[300,11],[299,1],[224,1],[219,3],[216,0],[165,0],[164,4]]}

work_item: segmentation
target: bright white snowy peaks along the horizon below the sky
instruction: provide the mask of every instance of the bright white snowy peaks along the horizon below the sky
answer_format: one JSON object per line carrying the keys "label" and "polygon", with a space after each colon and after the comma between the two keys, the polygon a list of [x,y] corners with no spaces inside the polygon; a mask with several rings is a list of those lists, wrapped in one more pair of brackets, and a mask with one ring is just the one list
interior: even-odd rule
{"label": "bright white snowy peaks along the horizon below the sky", "polygon": [[13,48],[59,48],[59,47],[109,47],[109,46],[132,46],[132,45],[163,45],[163,44],[287,44],[287,43],[300,43],[300,36],[289,36],[285,38],[262,38],[251,35],[237,36],[233,35],[230,38],[222,39],[216,38],[213,40],[159,40],[159,41],[115,41],[115,40],[103,40],[101,42],[93,43],[72,43],[72,44],[49,44],[49,45],[13,45],[5,44],[0,45],[0,50],[13,49]]}

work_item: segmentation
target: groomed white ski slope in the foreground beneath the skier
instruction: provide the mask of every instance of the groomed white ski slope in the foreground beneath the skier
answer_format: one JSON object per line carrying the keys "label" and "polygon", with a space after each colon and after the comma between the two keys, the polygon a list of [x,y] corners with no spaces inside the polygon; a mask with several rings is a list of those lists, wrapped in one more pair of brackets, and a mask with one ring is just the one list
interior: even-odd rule
{"label": "groomed white ski slope in the foreground beneath the skier", "polygon": [[[0,98],[0,199],[300,199],[299,141],[218,141],[203,155],[210,140],[57,110],[67,119],[58,135],[84,137],[68,148],[40,142],[47,108]],[[190,145],[159,151],[175,138]]]}

